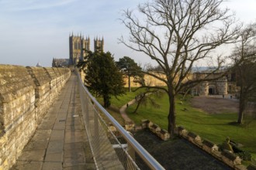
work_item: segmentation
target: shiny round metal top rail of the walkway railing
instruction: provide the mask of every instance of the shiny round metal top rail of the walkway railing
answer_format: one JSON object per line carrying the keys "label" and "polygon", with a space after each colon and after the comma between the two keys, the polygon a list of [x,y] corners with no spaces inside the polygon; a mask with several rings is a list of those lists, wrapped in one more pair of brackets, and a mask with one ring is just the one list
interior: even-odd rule
{"label": "shiny round metal top rail of the walkway railing", "polygon": [[76,73],[79,77],[79,81],[82,84],[83,89],[88,94],[88,97],[92,100],[92,102],[99,107],[99,109],[102,111],[102,113],[109,119],[109,121],[112,123],[113,126],[116,127],[116,130],[119,131],[119,133],[123,136],[123,138],[126,139],[127,143],[134,149],[134,151],[137,152],[137,154],[144,160],[144,162],[147,164],[147,166],[151,169],[164,169],[162,165],[160,165],[157,160],[155,160],[147,151],[144,149],[127,131],[116,121],[115,118],[113,118],[109,112],[102,107],[101,104],[95,99],[95,97],[92,96],[92,94],[88,91],[88,89],[84,86],[84,83],[81,80],[81,76],[78,73],[78,70],[76,70]]}

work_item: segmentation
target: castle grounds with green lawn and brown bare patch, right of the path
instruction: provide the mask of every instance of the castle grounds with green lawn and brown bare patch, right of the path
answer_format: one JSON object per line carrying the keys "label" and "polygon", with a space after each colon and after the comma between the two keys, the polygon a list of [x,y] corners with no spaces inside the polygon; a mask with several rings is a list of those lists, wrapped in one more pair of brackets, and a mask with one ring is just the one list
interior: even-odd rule
{"label": "castle grounds with green lawn and brown bare patch, right of the path", "polygon": [[[130,106],[126,112],[130,118],[137,124],[142,119],[154,121],[161,128],[167,129],[168,116],[168,97],[164,96],[157,99],[161,104],[159,109],[142,106],[133,114],[135,105]],[[177,125],[183,126],[188,131],[199,134],[201,138],[208,139],[216,145],[223,143],[225,138],[240,144],[241,149],[251,152],[256,156],[256,120],[254,115],[245,115],[243,125],[236,124],[237,121],[238,100],[230,99],[230,96],[212,96],[212,97],[178,97],[176,103]]]}

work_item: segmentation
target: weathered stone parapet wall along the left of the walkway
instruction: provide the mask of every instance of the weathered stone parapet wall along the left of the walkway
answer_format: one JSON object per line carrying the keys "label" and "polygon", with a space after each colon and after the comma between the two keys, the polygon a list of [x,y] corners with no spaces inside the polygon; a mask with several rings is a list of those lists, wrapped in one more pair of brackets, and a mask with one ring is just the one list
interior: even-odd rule
{"label": "weathered stone parapet wall along the left of the walkway", "polygon": [[9,169],[32,137],[69,69],[0,65],[0,169]]}

